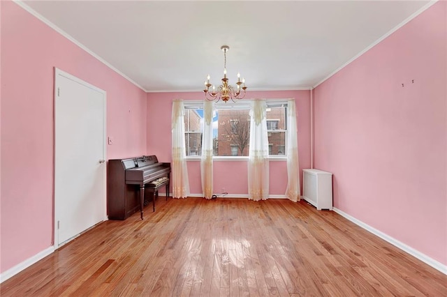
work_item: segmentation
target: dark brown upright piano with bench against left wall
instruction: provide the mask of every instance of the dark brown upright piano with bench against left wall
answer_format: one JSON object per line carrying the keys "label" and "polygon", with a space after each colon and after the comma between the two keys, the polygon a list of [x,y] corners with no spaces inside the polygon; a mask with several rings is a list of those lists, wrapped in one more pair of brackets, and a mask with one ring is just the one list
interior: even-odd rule
{"label": "dark brown upright piano with bench against left wall", "polygon": [[108,161],[107,214],[110,220],[126,220],[140,209],[141,220],[145,195],[155,199],[159,188],[166,186],[169,196],[170,163],[157,160],[155,155]]}

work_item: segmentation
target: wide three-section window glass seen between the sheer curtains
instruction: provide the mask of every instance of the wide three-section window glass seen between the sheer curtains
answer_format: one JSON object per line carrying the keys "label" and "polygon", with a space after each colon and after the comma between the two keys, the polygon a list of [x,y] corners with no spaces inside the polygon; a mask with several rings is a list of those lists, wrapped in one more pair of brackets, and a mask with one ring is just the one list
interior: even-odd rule
{"label": "wide three-section window glass seen between the sheer curtains", "polygon": [[[269,155],[286,153],[287,103],[267,101],[267,130]],[[186,155],[200,155],[203,132],[203,102],[185,101]],[[250,101],[241,100],[234,105],[217,104],[213,115],[213,153],[215,156],[248,156],[250,142]]]}

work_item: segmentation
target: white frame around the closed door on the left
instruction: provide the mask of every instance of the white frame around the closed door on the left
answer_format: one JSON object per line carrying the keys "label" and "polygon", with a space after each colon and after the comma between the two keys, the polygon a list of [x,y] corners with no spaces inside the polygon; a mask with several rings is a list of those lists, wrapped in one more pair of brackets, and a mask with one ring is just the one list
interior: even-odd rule
{"label": "white frame around the closed door on the left", "polygon": [[[80,234],[84,233],[85,231],[82,231],[80,234],[77,234],[73,238],[69,239],[68,241],[65,241],[64,243],[61,243],[61,245],[58,244],[59,242],[59,233],[57,231],[57,213],[56,213],[56,99],[57,99],[57,93],[58,93],[58,87],[59,87],[59,77],[65,77],[66,79],[71,79],[73,82],[77,82],[78,84],[82,84],[83,86],[87,86],[90,89],[93,89],[95,91],[98,91],[99,93],[103,94],[103,158],[105,160],[103,164],[103,197],[101,198],[102,202],[102,208],[103,208],[103,221],[108,220],[107,218],[107,146],[106,146],[106,112],[107,112],[107,93],[99,89],[98,87],[89,84],[88,82],[85,82],[82,79],[79,79],[78,77],[75,77],[74,75],[71,75],[69,73],[64,72],[63,70],[60,70],[59,68],[54,67],[54,88],[53,88],[53,247],[54,250],[57,250],[58,248],[61,248],[66,243],[70,242],[74,238],[78,237]],[[92,226],[94,227],[94,226]],[[91,228],[89,228],[91,229]]]}

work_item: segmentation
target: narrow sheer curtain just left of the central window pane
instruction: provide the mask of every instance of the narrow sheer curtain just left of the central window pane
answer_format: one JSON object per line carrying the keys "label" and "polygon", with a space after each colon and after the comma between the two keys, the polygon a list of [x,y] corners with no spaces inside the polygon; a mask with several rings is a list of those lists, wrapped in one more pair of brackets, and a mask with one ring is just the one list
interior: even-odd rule
{"label": "narrow sheer curtain just left of the central window pane", "polygon": [[203,104],[202,158],[200,158],[200,175],[202,178],[203,197],[212,197],[212,115],[213,102],[205,100]]}

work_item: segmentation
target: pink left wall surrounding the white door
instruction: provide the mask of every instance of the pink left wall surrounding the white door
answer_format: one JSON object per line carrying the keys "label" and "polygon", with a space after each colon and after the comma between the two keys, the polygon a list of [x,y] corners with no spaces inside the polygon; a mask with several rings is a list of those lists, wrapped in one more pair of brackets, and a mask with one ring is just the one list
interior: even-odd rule
{"label": "pink left wall surrounding the white door", "polygon": [[107,92],[108,159],[146,152],[146,93],[9,1],[1,5],[1,266],[52,245],[53,67]]}

